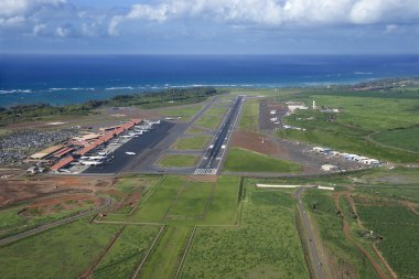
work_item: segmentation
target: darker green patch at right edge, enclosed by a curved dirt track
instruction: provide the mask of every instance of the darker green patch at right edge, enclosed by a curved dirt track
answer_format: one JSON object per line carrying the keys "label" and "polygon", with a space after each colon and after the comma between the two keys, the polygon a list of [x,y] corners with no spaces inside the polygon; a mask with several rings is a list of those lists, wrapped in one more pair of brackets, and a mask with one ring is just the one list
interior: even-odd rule
{"label": "darker green patch at right edge, enclosed by a curved dirt track", "polygon": [[419,139],[419,126],[382,131],[373,136],[373,140],[413,152],[419,152],[417,143]]}

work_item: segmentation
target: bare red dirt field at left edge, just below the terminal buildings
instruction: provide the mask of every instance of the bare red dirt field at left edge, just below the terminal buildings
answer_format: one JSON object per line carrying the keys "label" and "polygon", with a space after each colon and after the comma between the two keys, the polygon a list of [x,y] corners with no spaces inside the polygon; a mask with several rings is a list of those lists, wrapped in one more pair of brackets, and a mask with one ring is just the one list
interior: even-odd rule
{"label": "bare red dirt field at left edge, just below the terminal buildings", "polygon": [[[60,195],[92,195],[110,189],[114,179],[37,176],[28,180],[0,180],[0,206]],[[57,197],[58,198],[58,197]]]}

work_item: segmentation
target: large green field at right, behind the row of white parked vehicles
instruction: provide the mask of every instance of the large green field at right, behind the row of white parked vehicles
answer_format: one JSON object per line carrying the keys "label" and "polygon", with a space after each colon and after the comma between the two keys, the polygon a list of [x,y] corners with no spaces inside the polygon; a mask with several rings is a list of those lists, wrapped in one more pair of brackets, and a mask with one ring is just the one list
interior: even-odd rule
{"label": "large green field at right, behind the row of white parked vehicles", "polygon": [[[292,99],[311,104],[316,100],[319,107],[339,108],[339,114],[319,112],[313,110],[298,111],[284,118],[284,122],[305,128],[307,131],[284,130],[278,135],[300,141],[322,144],[342,152],[363,155],[394,162],[419,162],[415,153],[390,149],[376,144],[366,136],[380,131],[373,139],[396,148],[411,149],[415,146],[417,130],[401,132],[405,136],[397,141],[397,132],[386,130],[410,127],[419,121],[419,98],[415,94],[400,95],[395,92],[340,92],[340,90],[305,90],[296,94]],[[396,130],[395,130],[396,131]],[[398,130],[397,130],[398,131]],[[382,135],[382,136],[379,136]],[[379,137],[383,137],[382,139]],[[415,147],[413,147],[415,148]]]}

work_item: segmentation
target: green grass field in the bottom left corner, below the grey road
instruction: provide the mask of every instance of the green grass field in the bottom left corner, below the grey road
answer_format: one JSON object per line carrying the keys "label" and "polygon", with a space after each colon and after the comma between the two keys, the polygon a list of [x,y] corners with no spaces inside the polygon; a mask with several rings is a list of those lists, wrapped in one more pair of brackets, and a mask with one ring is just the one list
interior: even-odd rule
{"label": "green grass field in the bottom left corner, below the grey road", "polygon": [[85,221],[0,247],[2,278],[77,278],[119,229]]}

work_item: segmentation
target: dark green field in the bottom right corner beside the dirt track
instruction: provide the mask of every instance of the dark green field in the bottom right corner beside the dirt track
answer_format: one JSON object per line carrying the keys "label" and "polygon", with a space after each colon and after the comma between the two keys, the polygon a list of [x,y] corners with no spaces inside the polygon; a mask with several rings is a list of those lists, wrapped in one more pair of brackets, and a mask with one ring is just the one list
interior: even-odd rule
{"label": "dark green field in the bottom right corner beside the dirt track", "polygon": [[417,277],[419,216],[401,205],[356,207],[364,226],[383,237],[376,246],[399,278]]}

